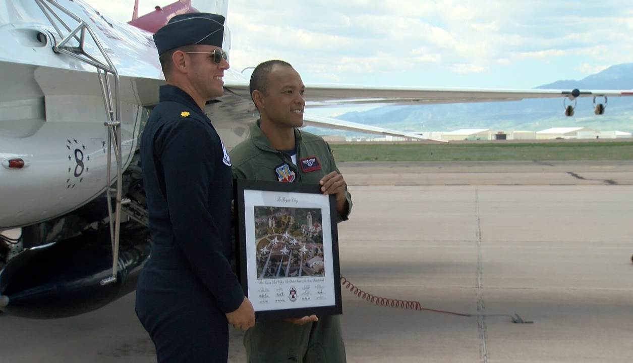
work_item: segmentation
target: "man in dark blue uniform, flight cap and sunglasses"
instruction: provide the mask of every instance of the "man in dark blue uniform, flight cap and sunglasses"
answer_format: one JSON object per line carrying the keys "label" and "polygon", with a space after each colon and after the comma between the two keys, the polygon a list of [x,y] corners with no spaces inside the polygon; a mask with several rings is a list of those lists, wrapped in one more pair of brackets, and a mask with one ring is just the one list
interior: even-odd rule
{"label": "man in dark blue uniform, flight cap and sunglasses", "polygon": [[158,362],[227,362],[228,325],[254,325],[231,271],[232,175],[206,101],[223,94],[224,17],[174,16],[154,34],[166,85],[141,137],[153,239],[136,313]]}

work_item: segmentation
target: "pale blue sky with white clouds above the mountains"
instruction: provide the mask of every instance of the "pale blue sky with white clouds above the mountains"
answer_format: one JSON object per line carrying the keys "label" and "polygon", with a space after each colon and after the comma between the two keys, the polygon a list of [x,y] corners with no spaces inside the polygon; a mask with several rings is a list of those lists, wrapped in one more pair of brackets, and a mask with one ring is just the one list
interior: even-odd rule
{"label": "pale blue sky with white clouds above the mountains", "polygon": [[[134,6],[88,2],[120,21]],[[633,62],[624,0],[230,0],[227,23],[232,67],[280,58],[304,82],[532,88]]]}

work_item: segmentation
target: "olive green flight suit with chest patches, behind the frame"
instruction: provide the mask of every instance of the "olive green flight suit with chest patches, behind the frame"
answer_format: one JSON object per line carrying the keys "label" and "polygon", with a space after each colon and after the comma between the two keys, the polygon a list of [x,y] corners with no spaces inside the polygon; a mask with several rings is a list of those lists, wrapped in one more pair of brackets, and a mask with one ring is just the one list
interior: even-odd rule
{"label": "olive green flight suit with chest patches, behind the frame", "polygon": [[[294,165],[287,153],[272,147],[259,124],[258,120],[251,126],[251,136],[230,151],[235,179],[318,184],[326,174],[339,172],[322,137],[294,129],[298,163]],[[348,219],[352,207],[347,186],[346,200],[348,208],[339,215],[339,222]],[[244,335],[244,347],[248,363],[346,362],[339,315],[320,316],[317,322],[301,326],[287,321],[256,322]]]}

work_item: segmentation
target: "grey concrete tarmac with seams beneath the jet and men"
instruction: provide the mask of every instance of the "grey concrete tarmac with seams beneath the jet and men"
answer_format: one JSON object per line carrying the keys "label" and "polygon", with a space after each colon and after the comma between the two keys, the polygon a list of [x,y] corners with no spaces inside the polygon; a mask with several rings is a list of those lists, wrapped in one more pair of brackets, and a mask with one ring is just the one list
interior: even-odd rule
{"label": "grey concrete tarmac with seams beneath the jet and men", "polygon": [[[633,162],[341,163],[348,362],[633,361]],[[531,324],[515,323],[510,315]],[[134,294],[89,314],[0,315],[0,363],[156,362]],[[230,362],[244,362],[231,328]]]}

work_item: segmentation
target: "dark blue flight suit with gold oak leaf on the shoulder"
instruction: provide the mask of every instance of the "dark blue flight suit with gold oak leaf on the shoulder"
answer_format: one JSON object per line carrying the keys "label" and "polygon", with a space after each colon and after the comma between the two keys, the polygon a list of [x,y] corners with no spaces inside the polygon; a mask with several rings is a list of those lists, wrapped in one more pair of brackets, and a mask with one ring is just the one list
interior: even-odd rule
{"label": "dark blue flight suit with gold oak leaf on the shoulder", "polygon": [[230,159],[211,120],[182,89],[161,86],[141,136],[153,240],[136,313],[158,363],[227,362],[225,314],[244,291],[230,267]]}

